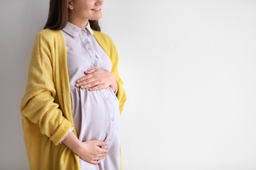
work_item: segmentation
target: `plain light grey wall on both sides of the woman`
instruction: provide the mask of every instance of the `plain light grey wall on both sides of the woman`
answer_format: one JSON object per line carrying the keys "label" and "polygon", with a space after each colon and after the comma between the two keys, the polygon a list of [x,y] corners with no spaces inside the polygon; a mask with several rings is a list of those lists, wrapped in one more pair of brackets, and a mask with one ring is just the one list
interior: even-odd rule
{"label": "plain light grey wall on both sides of the woman", "polygon": [[[49,0],[0,5],[0,169],[29,169],[19,105]],[[123,170],[256,169],[256,1],[105,1],[127,103]]]}

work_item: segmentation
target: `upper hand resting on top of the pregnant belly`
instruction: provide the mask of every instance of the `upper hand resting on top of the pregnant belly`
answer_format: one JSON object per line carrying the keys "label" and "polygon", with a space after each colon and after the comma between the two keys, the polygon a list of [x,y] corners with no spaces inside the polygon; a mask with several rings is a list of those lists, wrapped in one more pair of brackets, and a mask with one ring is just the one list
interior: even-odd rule
{"label": "upper hand resting on top of the pregnant belly", "polygon": [[91,69],[89,71],[85,71],[85,76],[79,78],[75,86],[82,89],[89,88],[90,91],[100,90],[110,86],[110,88],[116,92],[116,76],[114,73],[104,71],[102,69]]}

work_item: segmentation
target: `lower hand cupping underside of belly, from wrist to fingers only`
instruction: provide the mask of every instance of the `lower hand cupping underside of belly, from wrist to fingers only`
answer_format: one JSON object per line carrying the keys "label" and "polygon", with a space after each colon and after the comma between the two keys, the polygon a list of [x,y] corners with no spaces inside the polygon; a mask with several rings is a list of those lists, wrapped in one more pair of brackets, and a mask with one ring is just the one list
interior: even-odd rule
{"label": "lower hand cupping underside of belly, from wrist to fingers only", "polygon": [[98,164],[100,163],[99,160],[103,160],[106,154],[108,154],[108,149],[101,148],[106,145],[107,143],[104,141],[86,141],[81,143],[77,154],[81,159],[89,163]]}

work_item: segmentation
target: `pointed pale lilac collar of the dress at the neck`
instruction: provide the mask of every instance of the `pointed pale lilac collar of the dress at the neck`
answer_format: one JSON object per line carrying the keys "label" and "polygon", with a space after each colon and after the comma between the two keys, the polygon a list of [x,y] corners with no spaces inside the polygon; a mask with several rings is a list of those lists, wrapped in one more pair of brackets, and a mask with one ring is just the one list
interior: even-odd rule
{"label": "pointed pale lilac collar of the dress at the neck", "polygon": [[74,25],[74,24],[68,22],[66,24],[66,26],[64,27],[64,29],[62,29],[62,30],[64,32],[68,33],[69,35],[71,35],[72,37],[76,38],[76,37],[78,37],[78,35],[82,29],[87,29],[89,31],[89,33],[91,33],[91,35],[93,35],[93,29],[91,29],[89,22],[85,27],[77,27],[77,25]]}

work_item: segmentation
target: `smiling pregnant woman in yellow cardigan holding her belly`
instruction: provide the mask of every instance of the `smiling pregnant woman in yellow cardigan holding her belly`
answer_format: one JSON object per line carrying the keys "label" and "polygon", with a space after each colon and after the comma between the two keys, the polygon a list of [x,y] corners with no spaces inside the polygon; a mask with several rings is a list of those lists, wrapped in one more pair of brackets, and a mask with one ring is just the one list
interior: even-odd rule
{"label": "smiling pregnant woman in yellow cardigan holding her belly", "polygon": [[121,169],[119,114],[126,100],[104,0],[51,0],[35,37],[20,105],[30,169]]}

